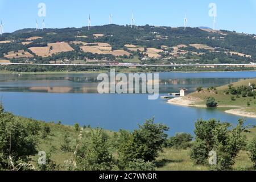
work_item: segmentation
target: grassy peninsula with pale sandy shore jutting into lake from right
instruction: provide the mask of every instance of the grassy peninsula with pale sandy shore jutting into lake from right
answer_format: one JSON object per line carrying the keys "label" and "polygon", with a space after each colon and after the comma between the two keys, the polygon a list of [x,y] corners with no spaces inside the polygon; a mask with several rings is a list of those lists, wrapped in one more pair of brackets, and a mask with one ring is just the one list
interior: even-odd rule
{"label": "grassy peninsula with pale sandy shore jutting into lake from right", "polygon": [[207,107],[205,105],[209,97],[213,97],[218,106],[217,109],[226,113],[243,117],[256,118],[256,79],[246,79],[224,85],[217,88],[199,89],[185,97],[169,100],[170,104],[192,107]]}

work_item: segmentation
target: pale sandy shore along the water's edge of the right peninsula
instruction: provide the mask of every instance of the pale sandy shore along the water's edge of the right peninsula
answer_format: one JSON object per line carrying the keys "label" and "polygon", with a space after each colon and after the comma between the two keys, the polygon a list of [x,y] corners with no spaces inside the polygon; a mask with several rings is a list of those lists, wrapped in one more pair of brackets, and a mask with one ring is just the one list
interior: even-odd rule
{"label": "pale sandy shore along the water's edge of the right peninsula", "polygon": [[[186,106],[186,107],[204,107],[204,108],[206,108],[207,106],[205,106],[205,105],[197,104],[201,101],[202,100],[200,98],[188,96],[188,97],[176,97],[176,98],[173,98],[171,100],[168,100],[167,103],[172,104],[172,105]],[[221,105],[221,106],[218,106],[218,107],[239,108],[240,106],[234,106],[234,105],[225,105],[224,106],[224,105]],[[244,108],[230,109],[230,110],[226,110],[225,113],[239,115],[239,116],[242,116],[242,117],[256,118],[255,113],[243,111],[242,109],[244,109]]]}

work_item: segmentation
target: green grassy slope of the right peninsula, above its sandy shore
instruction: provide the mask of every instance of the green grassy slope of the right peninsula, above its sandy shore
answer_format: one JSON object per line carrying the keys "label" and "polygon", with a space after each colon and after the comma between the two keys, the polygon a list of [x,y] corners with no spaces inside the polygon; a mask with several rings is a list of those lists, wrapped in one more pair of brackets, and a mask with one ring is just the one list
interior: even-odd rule
{"label": "green grassy slope of the right peninsula, above its sandy shore", "polygon": [[[251,82],[251,84],[252,83],[256,84],[256,78],[234,82],[233,87],[237,88],[238,86],[242,86],[242,85],[248,86],[249,82]],[[245,108],[246,111],[256,112],[256,100],[253,99],[253,97],[243,98],[240,96],[240,98],[236,98],[236,96],[234,96],[236,98],[236,101],[232,101],[231,100],[232,95],[225,94],[225,90],[228,90],[228,89],[229,89],[228,85],[224,85],[224,86],[220,86],[217,88],[217,94],[216,94],[216,91],[214,91],[214,90],[208,91],[207,89],[204,89],[200,93],[193,92],[193,93],[189,94],[189,96],[201,98],[201,100],[203,100],[203,101],[198,102],[197,104],[199,104],[199,105],[205,105],[205,101],[207,100],[208,97],[214,97],[216,99],[216,101],[218,102],[218,105],[221,106],[221,107],[218,107],[218,109],[220,109],[220,110]],[[247,107],[247,101],[250,101],[250,104],[251,104],[250,107]],[[226,106],[226,107],[224,107],[224,106]],[[237,108],[233,108],[230,106],[237,106]]]}

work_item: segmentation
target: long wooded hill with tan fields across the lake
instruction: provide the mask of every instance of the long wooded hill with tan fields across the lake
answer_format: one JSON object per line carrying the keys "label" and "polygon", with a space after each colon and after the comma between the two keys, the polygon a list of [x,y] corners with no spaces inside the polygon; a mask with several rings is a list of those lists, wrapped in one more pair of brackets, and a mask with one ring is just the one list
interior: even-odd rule
{"label": "long wooded hill with tan fields across the lake", "polygon": [[[63,44],[64,46],[56,46]],[[127,46],[128,45],[128,46]],[[255,63],[255,35],[209,28],[118,26],[33,28],[3,34],[0,59],[13,63]]]}

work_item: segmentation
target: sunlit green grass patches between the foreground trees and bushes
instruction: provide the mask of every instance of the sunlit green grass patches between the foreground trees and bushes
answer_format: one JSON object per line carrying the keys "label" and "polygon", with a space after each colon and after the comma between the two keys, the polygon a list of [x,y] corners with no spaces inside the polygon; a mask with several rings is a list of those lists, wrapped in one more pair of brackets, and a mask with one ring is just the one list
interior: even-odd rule
{"label": "sunlit green grass patches between the foreground trees and bushes", "polygon": [[[39,122],[41,126],[48,125],[51,127],[51,134],[48,135],[47,139],[40,138],[40,143],[38,150],[39,151],[51,151],[52,159],[55,160],[57,164],[65,165],[65,160],[72,160],[73,151],[75,151],[76,140],[79,136],[79,131],[76,131],[73,126],[64,126],[57,125],[55,123],[45,123],[41,121],[35,121],[31,119],[20,118],[21,122]],[[86,128],[82,132],[82,142],[89,142],[89,132],[92,129]],[[114,133],[112,131],[106,131],[106,134],[109,135],[110,141],[114,141]],[[72,152],[63,152],[60,150],[61,144],[64,143],[64,135],[68,134],[71,139]],[[256,128],[250,129],[250,133],[245,133],[247,140],[251,140],[253,137],[256,137]],[[52,146],[54,148],[52,148]],[[158,166],[157,170],[207,170],[205,166],[195,165],[192,160],[189,158],[190,150],[176,150],[174,148],[165,148],[164,151],[159,155],[156,160]],[[117,157],[116,154],[114,154]],[[36,164],[38,156],[32,156],[32,161]],[[234,169],[251,169],[253,164],[251,163],[246,151],[242,151],[238,158],[236,159],[236,165]],[[65,169],[65,168],[63,168]]]}

